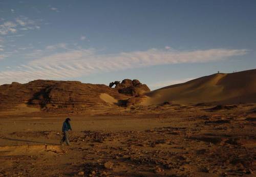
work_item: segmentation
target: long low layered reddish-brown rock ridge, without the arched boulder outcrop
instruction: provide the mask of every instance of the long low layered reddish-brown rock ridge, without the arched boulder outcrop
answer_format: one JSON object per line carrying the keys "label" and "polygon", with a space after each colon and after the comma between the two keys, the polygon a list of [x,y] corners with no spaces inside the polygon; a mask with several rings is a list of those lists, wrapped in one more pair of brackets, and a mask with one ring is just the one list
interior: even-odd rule
{"label": "long low layered reddish-brown rock ridge, without the arched boulder outcrop", "polygon": [[108,105],[100,99],[102,93],[108,94],[116,100],[128,98],[120,94],[117,89],[111,89],[104,84],[52,80],[35,80],[26,84],[13,82],[0,86],[0,110],[19,104],[48,110]]}

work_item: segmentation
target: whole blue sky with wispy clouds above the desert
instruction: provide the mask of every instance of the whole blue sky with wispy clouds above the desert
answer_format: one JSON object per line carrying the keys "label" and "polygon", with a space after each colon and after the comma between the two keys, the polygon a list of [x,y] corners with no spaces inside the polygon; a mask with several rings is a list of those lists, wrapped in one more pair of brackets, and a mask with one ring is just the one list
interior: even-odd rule
{"label": "whole blue sky with wispy clouds above the desert", "polygon": [[256,1],[3,1],[0,84],[35,79],[152,90],[256,67]]}

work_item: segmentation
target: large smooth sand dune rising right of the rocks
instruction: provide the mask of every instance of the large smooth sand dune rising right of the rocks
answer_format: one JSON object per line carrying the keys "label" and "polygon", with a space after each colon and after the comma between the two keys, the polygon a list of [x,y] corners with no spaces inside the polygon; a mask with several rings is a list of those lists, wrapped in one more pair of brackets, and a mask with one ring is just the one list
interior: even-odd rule
{"label": "large smooth sand dune rising right of the rocks", "polygon": [[147,93],[146,96],[142,105],[161,104],[166,101],[178,104],[255,102],[256,70],[204,76],[163,87]]}

